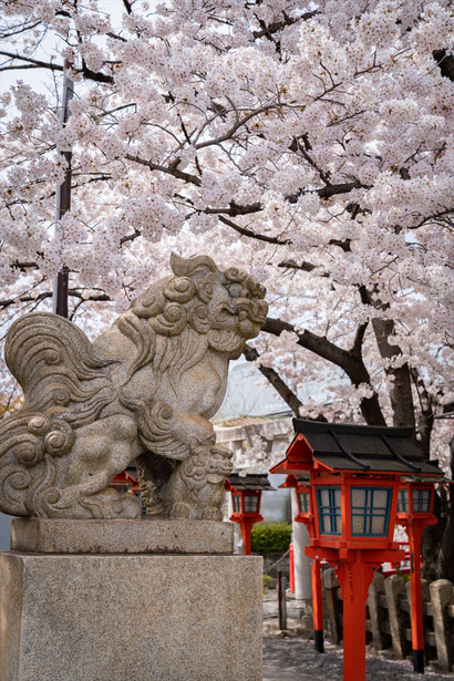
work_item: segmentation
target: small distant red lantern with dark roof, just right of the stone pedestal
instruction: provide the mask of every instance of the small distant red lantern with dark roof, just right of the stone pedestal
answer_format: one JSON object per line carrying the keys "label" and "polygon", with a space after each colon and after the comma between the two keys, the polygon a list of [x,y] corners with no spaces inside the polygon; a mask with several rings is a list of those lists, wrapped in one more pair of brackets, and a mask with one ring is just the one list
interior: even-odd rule
{"label": "small distant red lantern with dark roof, just right of the stone pedestal", "polygon": [[226,492],[231,494],[234,513],[229,520],[238,523],[241,528],[245,556],[250,555],[250,533],[255,523],[262,520],[260,515],[261,493],[272,492],[268,476],[260,474],[238,475],[233,473],[225,484]]}

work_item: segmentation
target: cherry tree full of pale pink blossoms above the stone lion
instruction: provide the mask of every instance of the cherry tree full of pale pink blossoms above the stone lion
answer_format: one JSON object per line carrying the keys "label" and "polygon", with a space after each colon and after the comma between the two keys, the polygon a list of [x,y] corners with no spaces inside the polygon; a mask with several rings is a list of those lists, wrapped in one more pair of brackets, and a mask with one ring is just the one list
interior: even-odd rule
{"label": "cherry tree full of pale pink blossoms above the stone lion", "polygon": [[295,413],[414,425],[448,466],[450,6],[0,0],[2,336],[63,266],[90,333],[204,251],[267,286],[245,354]]}

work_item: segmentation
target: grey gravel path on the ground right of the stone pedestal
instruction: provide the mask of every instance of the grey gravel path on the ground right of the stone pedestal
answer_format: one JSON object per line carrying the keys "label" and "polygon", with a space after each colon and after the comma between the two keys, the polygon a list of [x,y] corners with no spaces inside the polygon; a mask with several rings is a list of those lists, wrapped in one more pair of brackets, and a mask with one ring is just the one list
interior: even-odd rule
{"label": "grey gravel path on the ground right of the stone pedestal", "polygon": [[[278,630],[276,596],[264,598],[264,681],[341,681],[342,649],[326,643],[326,652],[314,651],[313,642],[298,636],[299,620],[288,601],[288,632]],[[292,617],[293,616],[293,617]],[[368,681],[453,681],[454,674],[435,673],[427,669],[424,675],[412,671],[406,660],[386,660],[367,657]]]}

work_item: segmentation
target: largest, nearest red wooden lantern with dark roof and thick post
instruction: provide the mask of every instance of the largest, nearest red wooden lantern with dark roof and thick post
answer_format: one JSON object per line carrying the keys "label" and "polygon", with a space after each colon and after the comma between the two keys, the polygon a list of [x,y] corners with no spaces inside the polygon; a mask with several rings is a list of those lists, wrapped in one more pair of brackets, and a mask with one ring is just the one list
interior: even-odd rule
{"label": "largest, nearest red wooden lantern with dark roof and thick post", "polygon": [[310,475],[306,554],[334,568],[343,599],[343,679],[365,679],[365,600],[374,570],[398,563],[393,541],[402,476],[443,477],[411,427],[293,420],[296,436],[272,473]]}

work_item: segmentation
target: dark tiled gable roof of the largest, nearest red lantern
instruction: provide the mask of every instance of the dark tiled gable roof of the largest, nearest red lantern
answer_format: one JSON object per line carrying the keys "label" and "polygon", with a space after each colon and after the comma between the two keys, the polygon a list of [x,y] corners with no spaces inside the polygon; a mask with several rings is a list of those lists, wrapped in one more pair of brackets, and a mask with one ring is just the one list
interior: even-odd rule
{"label": "dark tiled gable roof of the largest, nearest red lantern", "polygon": [[288,448],[288,460],[292,457],[308,464],[311,458],[312,464],[317,461],[330,470],[340,471],[443,476],[436,462],[424,458],[414,442],[414,430],[410,426],[351,425],[293,419],[293,427],[297,435]]}

